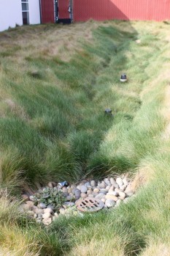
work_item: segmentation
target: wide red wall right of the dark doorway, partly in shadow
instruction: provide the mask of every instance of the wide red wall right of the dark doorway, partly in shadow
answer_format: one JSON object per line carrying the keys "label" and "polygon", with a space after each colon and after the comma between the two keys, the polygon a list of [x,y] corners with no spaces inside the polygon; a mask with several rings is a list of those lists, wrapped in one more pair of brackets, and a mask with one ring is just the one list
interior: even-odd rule
{"label": "wide red wall right of the dark doorway, partly in shadow", "polygon": [[170,19],[170,0],[73,0],[74,21]]}

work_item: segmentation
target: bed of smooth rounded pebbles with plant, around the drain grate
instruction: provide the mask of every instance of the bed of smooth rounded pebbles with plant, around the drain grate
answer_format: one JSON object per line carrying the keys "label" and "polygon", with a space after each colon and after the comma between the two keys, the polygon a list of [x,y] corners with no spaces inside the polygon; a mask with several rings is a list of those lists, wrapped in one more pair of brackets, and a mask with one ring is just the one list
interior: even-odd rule
{"label": "bed of smooth rounded pebbles with plant, around the drain grate", "polygon": [[112,208],[121,202],[128,202],[133,194],[131,182],[124,176],[104,178],[98,182],[85,180],[77,185],[63,187],[59,183],[50,182],[30,197],[23,194],[25,202],[20,205],[20,211],[28,213],[36,222],[49,225],[61,215],[83,216],[75,205],[77,200],[96,198],[104,202],[104,208]]}

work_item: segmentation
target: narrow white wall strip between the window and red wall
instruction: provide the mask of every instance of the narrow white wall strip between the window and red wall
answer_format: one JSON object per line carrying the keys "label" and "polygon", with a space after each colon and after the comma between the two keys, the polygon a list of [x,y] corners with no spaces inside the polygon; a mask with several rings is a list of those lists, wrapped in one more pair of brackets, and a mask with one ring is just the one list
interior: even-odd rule
{"label": "narrow white wall strip between the window and red wall", "polygon": [[39,24],[40,23],[39,0],[28,0],[28,8],[29,8],[29,23]]}

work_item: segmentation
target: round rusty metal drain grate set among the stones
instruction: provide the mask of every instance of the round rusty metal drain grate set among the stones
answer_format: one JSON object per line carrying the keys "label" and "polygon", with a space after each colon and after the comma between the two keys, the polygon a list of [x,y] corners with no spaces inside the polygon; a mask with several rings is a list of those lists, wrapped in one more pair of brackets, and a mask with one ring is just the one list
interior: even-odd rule
{"label": "round rusty metal drain grate set among the stones", "polygon": [[96,198],[86,197],[82,200],[77,200],[77,209],[80,211],[98,211],[104,208],[104,202]]}

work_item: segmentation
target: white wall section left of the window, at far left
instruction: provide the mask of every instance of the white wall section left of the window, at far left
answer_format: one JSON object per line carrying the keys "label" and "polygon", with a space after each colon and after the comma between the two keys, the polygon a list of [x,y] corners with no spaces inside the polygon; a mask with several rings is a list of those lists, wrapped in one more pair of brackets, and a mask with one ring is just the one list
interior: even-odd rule
{"label": "white wall section left of the window, at far left", "polygon": [[0,0],[0,31],[23,25],[21,0]]}

